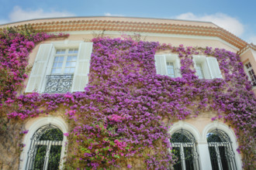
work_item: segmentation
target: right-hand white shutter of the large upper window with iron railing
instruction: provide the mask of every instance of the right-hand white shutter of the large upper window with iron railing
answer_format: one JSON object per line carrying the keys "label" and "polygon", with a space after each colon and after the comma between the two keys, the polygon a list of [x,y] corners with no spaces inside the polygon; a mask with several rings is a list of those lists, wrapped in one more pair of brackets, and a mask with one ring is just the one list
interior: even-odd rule
{"label": "right-hand white shutter of the large upper window with iron railing", "polygon": [[74,80],[71,92],[85,90],[85,86],[88,83],[91,55],[92,42],[81,42],[78,51],[78,61],[74,70]]}

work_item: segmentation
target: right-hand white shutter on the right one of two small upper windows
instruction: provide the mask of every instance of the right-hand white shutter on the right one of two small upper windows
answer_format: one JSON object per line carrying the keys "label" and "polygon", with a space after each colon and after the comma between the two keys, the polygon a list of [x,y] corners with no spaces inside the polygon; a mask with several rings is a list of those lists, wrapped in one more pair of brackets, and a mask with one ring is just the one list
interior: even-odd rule
{"label": "right-hand white shutter on the right one of two small upper windows", "polygon": [[219,66],[217,59],[215,57],[207,57],[206,61],[209,66],[209,72],[212,76],[212,79],[222,78],[222,75],[220,72],[220,66]]}

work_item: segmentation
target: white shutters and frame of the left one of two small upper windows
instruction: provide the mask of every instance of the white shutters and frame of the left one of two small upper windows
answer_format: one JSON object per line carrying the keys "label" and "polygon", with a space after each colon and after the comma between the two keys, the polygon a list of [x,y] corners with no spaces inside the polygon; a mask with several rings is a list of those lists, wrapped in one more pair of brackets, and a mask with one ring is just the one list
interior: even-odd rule
{"label": "white shutters and frame of the left one of two small upper windows", "polygon": [[164,76],[168,76],[167,62],[173,63],[175,77],[182,77],[181,74],[181,63],[178,58],[178,54],[168,53],[168,54],[157,54],[154,56],[155,67],[157,70],[157,74],[161,74]]}

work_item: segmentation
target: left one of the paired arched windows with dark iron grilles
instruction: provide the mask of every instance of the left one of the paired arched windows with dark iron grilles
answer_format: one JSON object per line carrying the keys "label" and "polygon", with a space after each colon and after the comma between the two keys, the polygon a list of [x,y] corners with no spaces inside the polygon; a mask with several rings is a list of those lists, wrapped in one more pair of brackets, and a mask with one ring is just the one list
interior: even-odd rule
{"label": "left one of the paired arched windows with dark iron grilles", "polygon": [[186,130],[175,131],[171,135],[172,153],[178,159],[173,166],[175,169],[199,169],[199,154],[196,150],[194,136]]}

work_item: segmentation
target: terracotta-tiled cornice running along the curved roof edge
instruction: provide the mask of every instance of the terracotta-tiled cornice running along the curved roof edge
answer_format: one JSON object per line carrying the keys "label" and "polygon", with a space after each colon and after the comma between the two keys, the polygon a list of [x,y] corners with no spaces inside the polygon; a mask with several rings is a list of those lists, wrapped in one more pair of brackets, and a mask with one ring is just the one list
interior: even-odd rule
{"label": "terracotta-tiled cornice running along the curved roof edge", "polygon": [[16,22],[0,26],[24,26],[29,24],[36,30],[45,32],[73,32],[73,31],[119,31],[119,32],[152,32],[178,34],[190,36],[219,37],[226,42],[244,49],[248,43],[227,32],[227,30],[211,22],[189,22],[171,19],[142,19],[126,17],[79,17],[61,19],[35,19]]}

